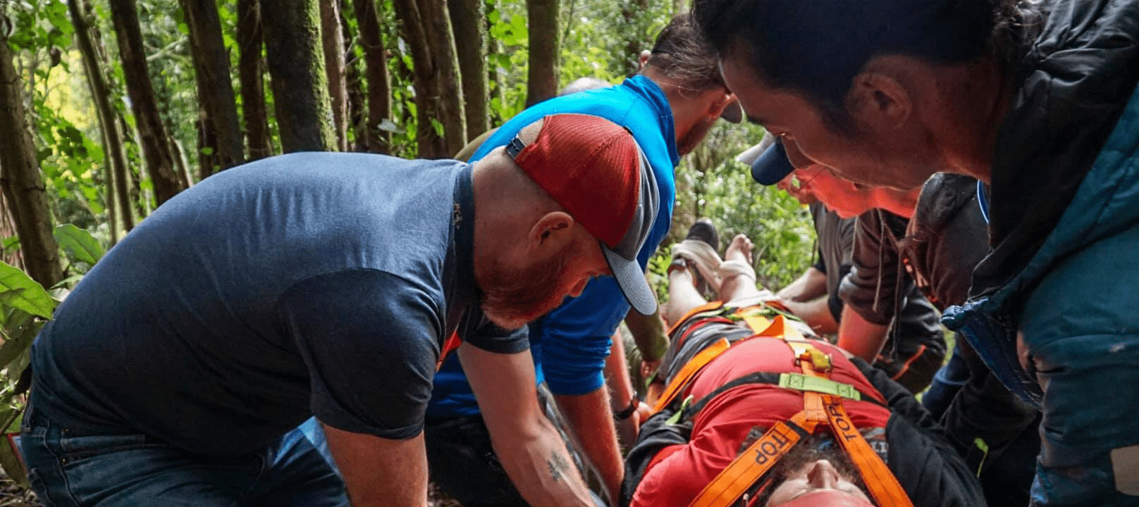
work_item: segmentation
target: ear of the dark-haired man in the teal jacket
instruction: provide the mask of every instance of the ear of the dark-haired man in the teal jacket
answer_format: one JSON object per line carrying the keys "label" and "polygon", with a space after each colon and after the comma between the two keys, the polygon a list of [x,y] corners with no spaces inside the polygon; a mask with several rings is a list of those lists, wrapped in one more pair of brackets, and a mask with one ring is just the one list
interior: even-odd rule
{"label": "ear of the dark-haired man in the teal jacket", "polygon": [[[878,67],[883,67],[879,65]],[[870,69],[854,76],[850,93],[846,95],[846,108],[859,118],[875,127],[894,130],[906,126],[913,114],[913,97],[899,78],[899,74],[890,72],[890,66]]]}

